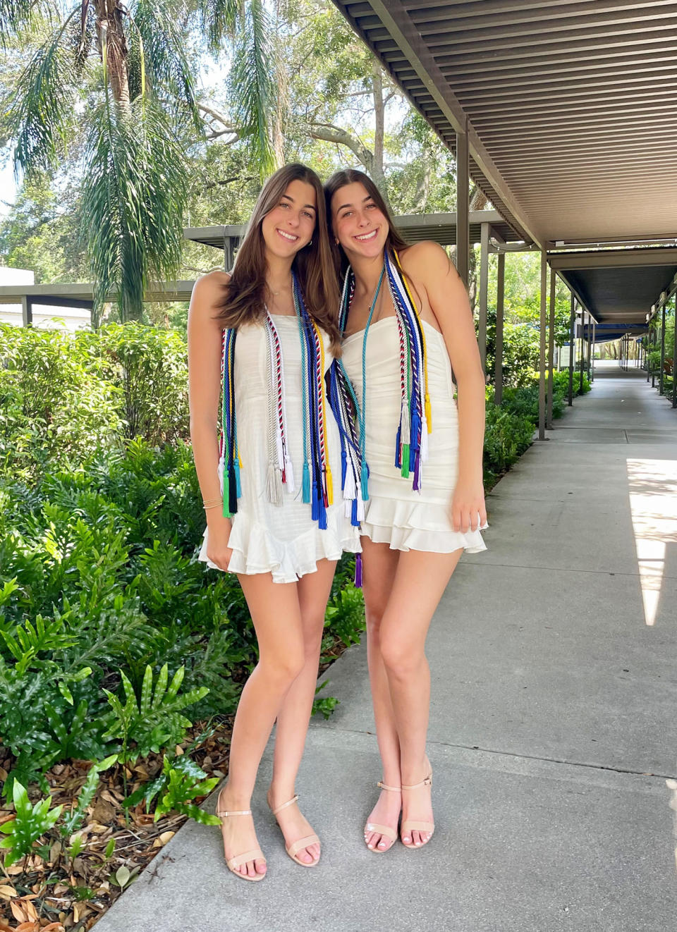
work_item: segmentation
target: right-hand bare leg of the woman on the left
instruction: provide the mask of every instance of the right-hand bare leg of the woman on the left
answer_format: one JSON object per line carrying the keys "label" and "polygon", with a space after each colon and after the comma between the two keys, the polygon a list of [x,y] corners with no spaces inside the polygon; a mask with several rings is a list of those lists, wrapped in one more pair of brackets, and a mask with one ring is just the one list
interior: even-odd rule
{"label": "right-hand bare leg of the woman on the left", "polygon": [[[317,571],[303,576],[297,583],[305,660],[303,669],[284,696],[277,717],[272,782],[268,794],[271,808],[282,805],[295,795],[297,772],[303,757],[317,683],[326,601],[335,571],[335,560],[320,560]],[[283,809],[277,819],[287,844],[312,834],[311,826],[299,812],[298,806]],[[320,845],[311,844],[299,851],[297,857],[311,864],[320,857]]]}

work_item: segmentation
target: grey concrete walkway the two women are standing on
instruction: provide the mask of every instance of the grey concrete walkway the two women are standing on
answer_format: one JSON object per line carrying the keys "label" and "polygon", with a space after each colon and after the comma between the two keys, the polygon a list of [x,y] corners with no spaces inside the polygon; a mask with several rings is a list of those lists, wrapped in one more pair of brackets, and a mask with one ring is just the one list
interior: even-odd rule
{"label": "grey concrete walkway the two women are standing on", "polygon": [[556,423],[490,495],[490,549],[463,557],[432,625],[432,843],[362,841],[380,765],[354,648],[297,786],[320,866],[284,854],[267,757],[266,881],[236,880],[217,829],[188,824],[97,932],[674,927],[677,411],[616,369]]}

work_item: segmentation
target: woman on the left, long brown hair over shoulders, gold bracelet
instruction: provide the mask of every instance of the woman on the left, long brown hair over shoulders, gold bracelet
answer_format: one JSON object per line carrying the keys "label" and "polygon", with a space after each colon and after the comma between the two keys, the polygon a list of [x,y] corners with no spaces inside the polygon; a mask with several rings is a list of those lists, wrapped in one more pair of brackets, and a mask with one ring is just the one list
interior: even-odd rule
{"label": "woman on the left, long brown hair over shoulders, gold bracelet", "polygon": [[275,720],[269,806],[289,856],[304,867],[320,857],[295,780],[334,570],[344,549],[359,550],[346,516],[355,496],[341,499],[346,427],[325,392],[338,301],[322,185],[293,164],[264,185],[232,272],[197,281],[188,314],[190,434],[207,521],[200,559],[237,573],[258,642],[216,807],[228,868],[250,881],[266,872],[250,802]]}

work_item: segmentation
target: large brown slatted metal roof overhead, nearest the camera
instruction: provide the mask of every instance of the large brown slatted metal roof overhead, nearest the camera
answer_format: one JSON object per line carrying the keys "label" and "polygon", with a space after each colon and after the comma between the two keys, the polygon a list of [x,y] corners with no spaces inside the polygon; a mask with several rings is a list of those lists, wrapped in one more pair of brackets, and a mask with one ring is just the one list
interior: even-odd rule
{"label": "large brown slatted metal roof overhead, nearest the camera", "polygon": [[675,238],[677,3],[334,3],[521,237]]}

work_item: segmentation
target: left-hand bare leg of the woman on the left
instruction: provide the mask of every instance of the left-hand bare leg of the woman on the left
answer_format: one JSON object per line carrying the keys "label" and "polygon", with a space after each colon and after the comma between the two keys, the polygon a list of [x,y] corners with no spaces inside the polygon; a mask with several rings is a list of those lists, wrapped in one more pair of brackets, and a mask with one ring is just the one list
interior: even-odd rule
{"label": "left-hand bare leg of the woman on the left", "polygon": [[[249,809],[256,771],[284,696],[304,663],[297,583],[273,583],[270,573],[239,575],[258,641],[258,664],[244,684],[230,740],[228,783],[221,806]],[[256,848],[251,816],[226,818],[222,833],[226,857]],[[243,864],[242,873],[265,873],[265,861]]]}

